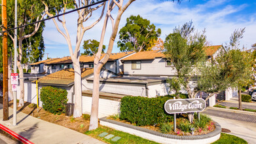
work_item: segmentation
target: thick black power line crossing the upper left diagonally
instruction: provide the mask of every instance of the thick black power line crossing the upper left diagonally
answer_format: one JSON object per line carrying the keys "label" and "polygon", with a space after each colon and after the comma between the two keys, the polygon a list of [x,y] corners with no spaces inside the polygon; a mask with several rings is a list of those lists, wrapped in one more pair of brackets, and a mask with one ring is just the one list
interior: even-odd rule
{"label": "thick black power line crossing the upper left diagonally", "polygon": [[[92,4],[90,4],[90,5],[86,5],[86,6],[84,6],[84,7],[80,7],[80,8],[78,8],[78,9],[70,10],[70,11],[68,11],[68,12],[64,12],[64,13],[62,13],[62,14],[58,14],[58,15],[56,15],[56,16],[52,16],[52,17],[50,17],[50,18],[46,18],[46,19],[43,19],[43,20],[39,20],[39,21],[37,21],[37,22],[31,22],[30,24],[26,24],[26,25],[24,25],[24,26],[13,27],[13,28],[7,29],[7,31],[10,31],[10,30],[13,30],[13,29],[18,29],[18,28],[20,28],[20,27],[29,26],[29,25],[32,25],[32,24],[37,24],[37,23],[39,23],[39,22],[43,22],[43,21],[46,21],[46,20],[50,20],[50,19],[56,18],[56,17],[58,17],[58,16],[63,16],[63,15],[65,15],[65,14],[69,14],[69,13],[75,12],[75,11],[77,11],[77,10],[85,9],[85,8],[87,8],[87,7],[92,7],[92,6],[94,6],[94,5],[98,5],[99,3],[103,3],[103,2],[105,2],[105,1],[109,1],[109,0],[98,1],[98,2],[92,3]],[[5,32],[5,31],[0,31],[0,33],[3,33],[3,32]]]}

